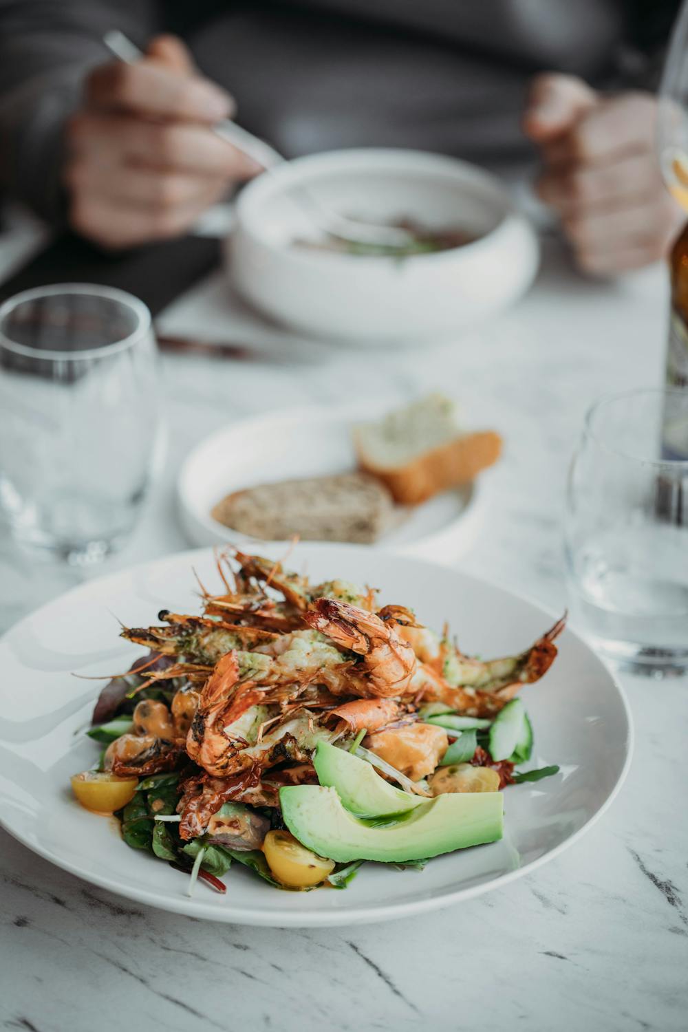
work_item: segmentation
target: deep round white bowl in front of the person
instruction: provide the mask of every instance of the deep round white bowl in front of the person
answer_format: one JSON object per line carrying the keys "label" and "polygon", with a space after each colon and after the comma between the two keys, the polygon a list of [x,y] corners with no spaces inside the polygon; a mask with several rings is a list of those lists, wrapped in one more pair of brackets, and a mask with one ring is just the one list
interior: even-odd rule
{"label": "deep round white bowl in front of the person", "polygon": [[[354,218],[407,217],[465,228],[461,248],[403,259],[292,246],[313,237],[306,190]],[[474,165],[419,151],[357,150],[298,158],[241,192],[229,238],[231,277],[265,315],[308,335],[366,343],[441,338],[520,297],[538,247],[499,181]]]}

